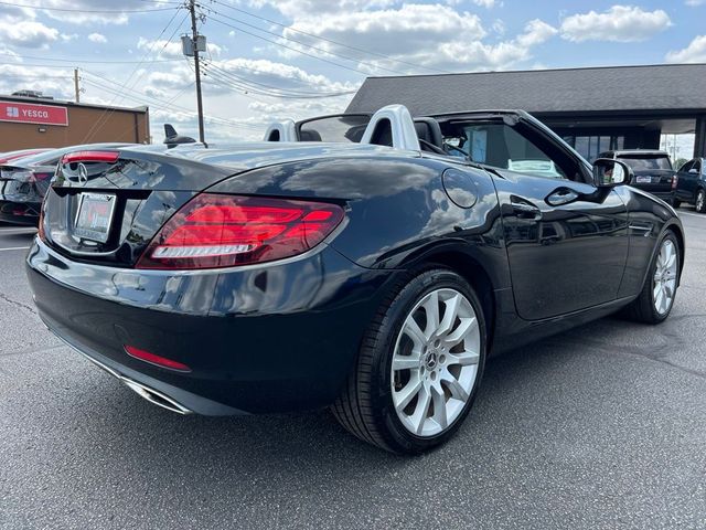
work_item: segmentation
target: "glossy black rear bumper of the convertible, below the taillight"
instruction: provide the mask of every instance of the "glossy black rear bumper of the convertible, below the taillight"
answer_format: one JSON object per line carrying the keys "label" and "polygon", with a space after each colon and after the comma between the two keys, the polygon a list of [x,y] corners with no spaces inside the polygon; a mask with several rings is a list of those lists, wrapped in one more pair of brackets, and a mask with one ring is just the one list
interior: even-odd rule
{"label": "glossy black rear bumper of the convertible, below the taillight", "polygon": [[[39,240],[26,265],[54,333],[115,377],[201,414],[331,404],[393,274],[359,267],[330,247],[248,269],[118,269],[69,261]],[[192,371],[133,359],[126,344]]]}

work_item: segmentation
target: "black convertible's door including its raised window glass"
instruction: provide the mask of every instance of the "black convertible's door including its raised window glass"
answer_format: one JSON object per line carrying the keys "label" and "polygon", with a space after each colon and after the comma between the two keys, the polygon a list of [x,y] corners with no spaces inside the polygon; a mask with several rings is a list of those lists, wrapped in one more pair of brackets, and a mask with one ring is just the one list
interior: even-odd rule
{"label": "black convertible's door including its raised window glass", "polygon": [[466,136],[471,158],[498,172],[518,315],[538,320],[614,300],[628,257],[618,193],[588,182],[586,165],[532,124],[469,124]]}

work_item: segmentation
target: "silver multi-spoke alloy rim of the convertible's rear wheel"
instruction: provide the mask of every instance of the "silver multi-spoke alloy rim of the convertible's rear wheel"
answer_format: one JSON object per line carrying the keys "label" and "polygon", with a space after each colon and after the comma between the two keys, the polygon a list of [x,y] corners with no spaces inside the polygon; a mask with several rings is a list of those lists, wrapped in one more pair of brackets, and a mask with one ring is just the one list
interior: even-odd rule
{"label": "silver multi-spoke alloy rim of the convertible's rear wheel", "polygon": [[473,306],[456,289],[437,289],[411,309],[392,362],[393,404],[417,436],[435,436],[461,414],[480,360],[481,335]]}

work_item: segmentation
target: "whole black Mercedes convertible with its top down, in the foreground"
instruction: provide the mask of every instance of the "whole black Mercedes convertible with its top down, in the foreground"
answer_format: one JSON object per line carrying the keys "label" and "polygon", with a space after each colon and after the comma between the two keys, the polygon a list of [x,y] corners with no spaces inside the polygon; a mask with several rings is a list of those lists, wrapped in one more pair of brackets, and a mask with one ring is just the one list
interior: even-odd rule
{"label": "whole black Mercedes convertible with its top down, in the foreground", "polygon": [[66,155],[26,258],[49,328],[165,409],[330,406],[419,453],[459,428],[489,354],[672,309],[673,209],[525,113],[275,129],[290,141]]}

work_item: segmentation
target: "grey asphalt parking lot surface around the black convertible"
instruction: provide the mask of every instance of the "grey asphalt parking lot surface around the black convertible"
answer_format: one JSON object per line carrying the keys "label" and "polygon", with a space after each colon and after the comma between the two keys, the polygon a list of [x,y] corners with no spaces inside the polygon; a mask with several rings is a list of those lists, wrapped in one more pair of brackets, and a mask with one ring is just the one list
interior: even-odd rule
{"label": "grey asphalt parking lot surface around the black convertible", "polygon": [[0,528],[706,528],[706,215],[682,209],[671,318],[608,318],[492,360],[439,451],[327,412],[178,416],[40,322],[0,226]]}

